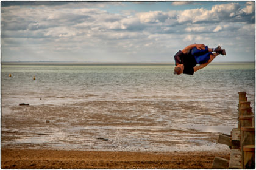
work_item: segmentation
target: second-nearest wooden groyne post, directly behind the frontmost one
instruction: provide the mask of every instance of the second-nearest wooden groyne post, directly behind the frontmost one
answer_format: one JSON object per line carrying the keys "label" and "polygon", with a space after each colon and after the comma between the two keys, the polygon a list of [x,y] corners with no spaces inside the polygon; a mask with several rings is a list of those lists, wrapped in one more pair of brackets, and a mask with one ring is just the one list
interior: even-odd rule
{"label": "second-nearest wooden groyne post, directly behind the frontmost one", "polygon": [[243,147],[246,145],[255,145],[255,127],[241,127],[241,152],[242,163],[244,166],[244,151]]}

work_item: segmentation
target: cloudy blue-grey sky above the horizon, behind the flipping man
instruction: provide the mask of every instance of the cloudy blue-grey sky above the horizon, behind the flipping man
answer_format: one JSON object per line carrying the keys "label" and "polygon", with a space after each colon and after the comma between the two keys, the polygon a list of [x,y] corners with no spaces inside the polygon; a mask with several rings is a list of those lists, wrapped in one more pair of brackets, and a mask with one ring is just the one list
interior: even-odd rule
{"label": "cloudy blue-grey sky above the horizon, behind the flipping man", "polygon": [[1,61],[173,63],[194,43],[255,61],[255,1],[1,1]]}

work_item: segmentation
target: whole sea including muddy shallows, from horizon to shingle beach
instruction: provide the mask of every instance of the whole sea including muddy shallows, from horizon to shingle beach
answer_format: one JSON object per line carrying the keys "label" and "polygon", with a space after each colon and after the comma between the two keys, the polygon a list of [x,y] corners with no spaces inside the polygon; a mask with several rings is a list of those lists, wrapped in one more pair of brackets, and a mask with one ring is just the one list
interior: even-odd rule
{"label": "whole sea including muddy shallows, from horizon to shingle beach", "polygon": [[173,69],[171,63],[2,62],[1,146],[229,149],[216,140],[238,126],[238,92],[246,92],[255,113],[255,63],[211,63],[194,75]]}

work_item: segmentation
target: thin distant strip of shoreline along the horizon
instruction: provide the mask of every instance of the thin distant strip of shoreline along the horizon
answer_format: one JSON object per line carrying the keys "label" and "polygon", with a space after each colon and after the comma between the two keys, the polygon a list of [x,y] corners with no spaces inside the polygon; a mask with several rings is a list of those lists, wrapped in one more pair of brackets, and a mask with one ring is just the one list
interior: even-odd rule
{"label": "thin distant strip of shoreline along the horizon", "polygon": [[[67,65],[67,66],[73,66],[73,65],[81,65],[81,66],[87,66],[87,65],[102,65],[102,66],[118,66],[118,65],[124,65],[124,66],[141,66],[141,65],[174,65],[174,63],[168,63],[168,62],[79,62],[79,61],[1,61],[1,65],[27,65],[27,64],[33,64],[33,65]],[[255,64],[255,62],[223,62],[223,63],[211,63],[211,64]]]}

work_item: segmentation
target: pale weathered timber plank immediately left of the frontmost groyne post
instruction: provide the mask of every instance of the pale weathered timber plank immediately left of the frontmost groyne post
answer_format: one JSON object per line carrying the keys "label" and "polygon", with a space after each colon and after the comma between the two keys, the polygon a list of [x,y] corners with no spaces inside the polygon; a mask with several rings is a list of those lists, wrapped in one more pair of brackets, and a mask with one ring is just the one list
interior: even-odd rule
{"label": "pale weathered timber plank immediately left of the frontmost groyne post", "polygon": [[240,149],[231,149],[229,159],[229,169],[242,169]]}

